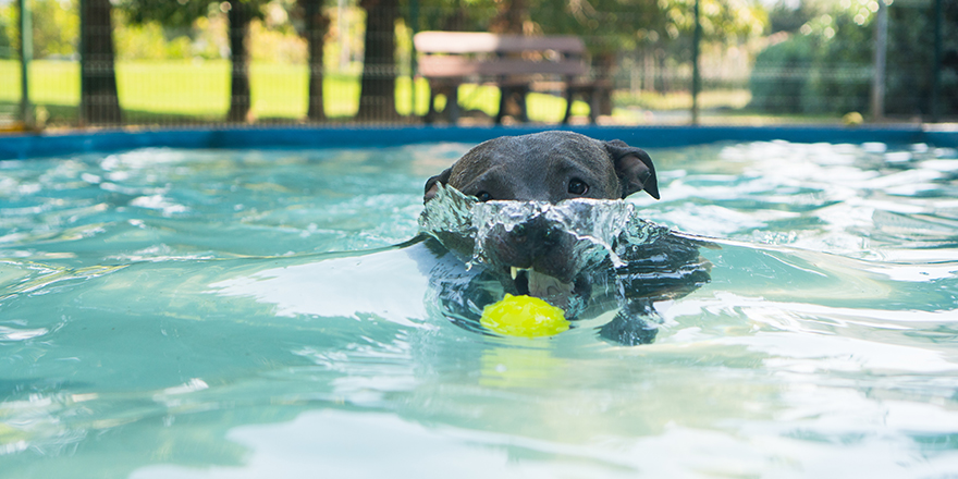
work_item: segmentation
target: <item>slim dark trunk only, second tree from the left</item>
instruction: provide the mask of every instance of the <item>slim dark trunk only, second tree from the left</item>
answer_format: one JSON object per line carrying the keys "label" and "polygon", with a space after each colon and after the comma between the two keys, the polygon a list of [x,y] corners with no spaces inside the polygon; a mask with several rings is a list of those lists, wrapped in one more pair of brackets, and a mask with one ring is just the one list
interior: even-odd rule
{"label": "slim dark trunk only, second tree from the left", "polygon": [[249,52],[246,37],[249,32],[250,7],[242,0],[230,0],[230,112],[226,121],[249,120]]}

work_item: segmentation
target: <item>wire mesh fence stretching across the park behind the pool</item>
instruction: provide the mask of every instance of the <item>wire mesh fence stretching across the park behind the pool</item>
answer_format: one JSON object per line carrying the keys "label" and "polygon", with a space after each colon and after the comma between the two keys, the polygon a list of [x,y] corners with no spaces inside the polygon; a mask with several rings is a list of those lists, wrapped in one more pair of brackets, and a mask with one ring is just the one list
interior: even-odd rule
{"label": "wire mesh fence stretching across the park behind the pool", "polygon": [[[638,125],[958,119],[958,0],[844,0],[844,13],[776,33],[773,19],[749,35],[670,24],[651,0],[556,1],[524,0],[508,25],[502,2],[177,0],[150,20],[137,17],[157,3],[146,0],[0,0],[0,128],[422,123],[430,90],[412,38],[423,29],[582,38],[588,76],[609,88],[603,102],[575,101],[574,123],[590,112]],[[671,4],[695,17],[699,1]],[[199,14],[176,23],[176,7]],[[456,122],[490,124],[502,89],[472,79]],[[504,122],[560,122],[566,100],[551,85],[526,96],[527,118]]]}

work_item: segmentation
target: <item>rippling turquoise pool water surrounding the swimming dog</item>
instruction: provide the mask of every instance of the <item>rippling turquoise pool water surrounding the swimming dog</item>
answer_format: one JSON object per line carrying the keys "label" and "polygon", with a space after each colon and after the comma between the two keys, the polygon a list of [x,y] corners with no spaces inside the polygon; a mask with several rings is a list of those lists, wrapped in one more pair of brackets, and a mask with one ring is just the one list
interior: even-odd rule
{"label": "rippling turquoise pool water surrounding the swimming dog", "polygon": [[438,312],[392,245],[469,147],[0,162],[0,477],[958,475],[958,152],[650,150],[721,248],[627,347]]}

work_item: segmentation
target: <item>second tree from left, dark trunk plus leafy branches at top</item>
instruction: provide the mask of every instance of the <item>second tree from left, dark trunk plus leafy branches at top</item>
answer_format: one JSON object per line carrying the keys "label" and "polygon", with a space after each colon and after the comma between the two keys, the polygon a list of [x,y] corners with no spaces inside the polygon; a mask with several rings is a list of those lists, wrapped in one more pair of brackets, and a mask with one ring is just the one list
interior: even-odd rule
{"label": "second tree from left, dark trunk plus leafy branches at top", "polygon": [[[98,0],[109,1],[109,0]],[[246,38],[249,23],[262,16],[266,0],[122,0],[122,8],[133,23],[158,21],[165,26],[186,27],[206,16],[210,5],[226,12],[230,22],[230,111],[226,120],[244,122],[249,118],[249,50]]]}

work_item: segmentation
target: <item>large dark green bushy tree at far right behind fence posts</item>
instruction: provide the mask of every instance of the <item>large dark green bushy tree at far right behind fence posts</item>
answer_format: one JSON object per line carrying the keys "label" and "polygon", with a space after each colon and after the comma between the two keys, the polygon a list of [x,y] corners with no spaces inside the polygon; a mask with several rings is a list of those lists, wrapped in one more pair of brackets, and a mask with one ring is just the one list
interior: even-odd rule
{"label": "large dark green bushy tree at far right behind fence posts", "polygon": [[[812,2],[806,23],[789,39],[756,59],[750,81],[753,108],[794,113],[865,111],[871,90],[874,19],[871,1]],[[931,111],[933,2],[888,7],[885,112]],[[944,2],[945,30],[958,29],[958,3]],[[958,39],[944,37],[943,93],[958,91]],[[787,89],[786,89],[787,88]],[[785,94],[787,91],[787,94]],[[793,98],[787,98],[788,96]],[[939,99],[942,113],[958,113],[958,96]]]}

